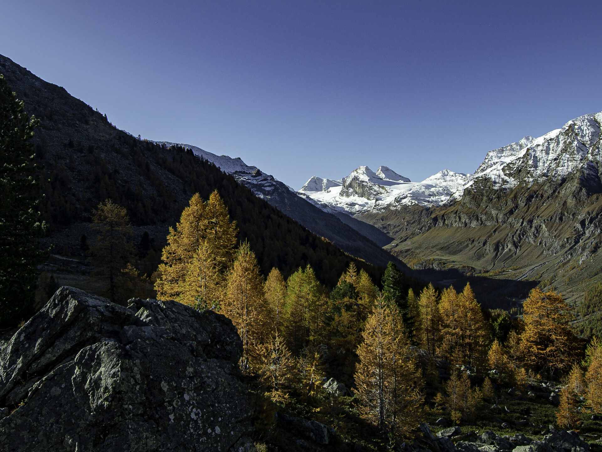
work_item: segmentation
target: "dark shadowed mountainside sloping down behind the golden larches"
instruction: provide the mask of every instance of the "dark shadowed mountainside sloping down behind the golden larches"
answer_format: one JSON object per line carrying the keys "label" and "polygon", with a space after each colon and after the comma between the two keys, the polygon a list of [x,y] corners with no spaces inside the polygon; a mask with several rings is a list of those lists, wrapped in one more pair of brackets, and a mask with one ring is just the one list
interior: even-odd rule
{"label": "dark shadowed mountainside sloping down behind the golden larches", "polygon": [[134,225],[173,225],[191,195],[207,199],[218,190],[237,222],[238,239],[248,240],[265,275],[277,267],[287,277],[310,264],[322,283],[334,287],[355,262],[380,281],[384,268],[312,234],[193,152],[117,129],[106,115],[2,55],[0,73],[26,111],[40,119],[33,141],[49,180],[41,209],[50,234],[90,221],[93,209],[107,198],[126,207]]}

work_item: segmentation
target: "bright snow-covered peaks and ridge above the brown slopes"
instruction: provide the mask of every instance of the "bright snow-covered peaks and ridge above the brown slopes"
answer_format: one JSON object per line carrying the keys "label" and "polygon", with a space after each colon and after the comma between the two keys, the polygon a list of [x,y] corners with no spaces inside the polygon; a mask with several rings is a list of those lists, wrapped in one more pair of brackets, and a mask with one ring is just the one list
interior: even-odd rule
{"label": "bright snow-covered peaks and ridge above the brown slopes", "polygon": [[474,174],[444,169],[416,183],[386,166],[376,173],[360,166],[338,181],[314,176],[299,193],[320,209],[355,215],[412,204],[439,207],[460,199],[477,178],[488,178],[495,189],[507,189],[520,183],[564,178],[580,169],[590,174],[602,164],[601,123],[602,113],[595,113],[573,119],[541,137],[526,136],[487,152]]}

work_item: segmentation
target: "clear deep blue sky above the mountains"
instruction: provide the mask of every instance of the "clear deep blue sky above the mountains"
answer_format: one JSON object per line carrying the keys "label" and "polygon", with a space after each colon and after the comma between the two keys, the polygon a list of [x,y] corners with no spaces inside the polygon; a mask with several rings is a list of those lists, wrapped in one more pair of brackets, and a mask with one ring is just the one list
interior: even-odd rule
{"label": "clear deep blue sky above the mountains", "polygon": [[602,111],[600,1],[4,0],[0,54],[152,140],[299,189],[412,180]]}

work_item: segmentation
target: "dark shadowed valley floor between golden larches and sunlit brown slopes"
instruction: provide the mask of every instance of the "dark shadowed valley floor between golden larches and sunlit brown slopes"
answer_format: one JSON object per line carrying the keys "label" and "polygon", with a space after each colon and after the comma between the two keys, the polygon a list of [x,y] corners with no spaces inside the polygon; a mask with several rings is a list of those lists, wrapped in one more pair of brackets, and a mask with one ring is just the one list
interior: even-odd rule
{"label": "dark shadowed valley floor between golden larches and sunlit brown slopes", "polygon": [[418,270],[417,274],[424,280],[431,281],[440,289],[453,286],[460,292],[467,283],[470,283],[477,301],[486,309],[510,310],[513,307],[522,306],[525,298],[529,296],[530,290],[539,284],[539,281],[466,276],[457,269]]}

